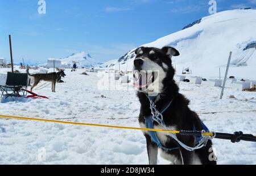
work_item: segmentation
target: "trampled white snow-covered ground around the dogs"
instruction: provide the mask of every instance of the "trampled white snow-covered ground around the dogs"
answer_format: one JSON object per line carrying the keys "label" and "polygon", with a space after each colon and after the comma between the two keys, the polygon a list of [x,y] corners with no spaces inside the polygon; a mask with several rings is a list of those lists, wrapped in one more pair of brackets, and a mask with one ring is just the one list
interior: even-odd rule
{"label": "trampled white snow-covered ground around the dogs", "polygon": [[[1,68],[0,74],[6,71]],[[56,93],[51,92],[50,85],[35,90],[49,100],[8,101],[0,104],[0,114],[139,127],[140,106],[131,83],[118,81],[116,85],[123,90],[104,91],[98,88],[102,77],[97,73],[88,76],[80,75],[82,70],[65,73],[65,83],[56,85]],[[191,100],[191,109],[199,113],[210,130],[256,134],[255,92],[238,92],[227,87],[223,100],[219,100],[221,89],[217,87],[192,83],[179,83],[179,87]],[[218,164],[256,164],[256,143],[233,144],[218,139],[213,143]],[[168,163],[159,157],[159,164]],[[148,164],[148,161],[141,131],[0,118],[0,164]]]}

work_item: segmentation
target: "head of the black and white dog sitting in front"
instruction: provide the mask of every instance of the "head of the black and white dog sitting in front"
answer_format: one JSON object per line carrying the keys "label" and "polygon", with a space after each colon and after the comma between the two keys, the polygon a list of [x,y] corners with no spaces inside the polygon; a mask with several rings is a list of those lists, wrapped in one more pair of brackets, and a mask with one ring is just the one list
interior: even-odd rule
{"label": "head of the black and white dog sitting in front", "polygon": [[158,94],[163,89],[163,81],[173,79],[172,56],[180,55],[175,48],[166,46],[162,49],[140,47],[135,50],[134,86],[138,91]]}

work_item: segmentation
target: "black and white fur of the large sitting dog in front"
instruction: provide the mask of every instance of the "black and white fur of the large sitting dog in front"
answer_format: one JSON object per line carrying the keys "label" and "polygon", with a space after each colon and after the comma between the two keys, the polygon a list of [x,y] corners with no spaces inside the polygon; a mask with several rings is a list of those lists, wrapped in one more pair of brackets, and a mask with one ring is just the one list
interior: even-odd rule
{"label": "black and white fur of the large sitting dog in front", "polygon": [[[147,85],[146,90],[138,91],[138,98],[141,102],[141,112],[139,114],[139,123],[145,128],[145,117],[151,115],[150,101],[147,96],[150,93],[156,93],[155,105],[158,110],[161,110],[170,101],[171,106],[164,111],[163,120],[169,130],[196,130],[201,131],[201,121],[198,115],[188,108],[189,100],[179,93],[179,88],[174,81],[175,70],[172,67],[171,58],[179,55],[179,51],[171,47],[145,48],[141,47],[135,50],[137,57],[134,60],[134,70],[136,71],[158,71],[158,75],[154,75],[153,81]],[[138,78],[135,78],[135,80]],[[156,84],[157,83],[157,84]],[[158,123],[154,122],[155,128],[161,128]],[[180,147],[173,151],[164,151],[151,140],[148,131],[144,131],[144,136],[147,141],[148,160],[151,165],[157,164],[158,151],[160,155],[171,161],[171,164],[204,164],[214,165],[216,161],[210,161],[209,156],[212,153],[212,141],[208,141],[207,146],[193,152],[189,152],[180,147],[177,142],[172,139],[166,132],[156,132],[160,142],[166,148]],[[189,147],[195,146],[195,137],[177,135],[180,141]]]}

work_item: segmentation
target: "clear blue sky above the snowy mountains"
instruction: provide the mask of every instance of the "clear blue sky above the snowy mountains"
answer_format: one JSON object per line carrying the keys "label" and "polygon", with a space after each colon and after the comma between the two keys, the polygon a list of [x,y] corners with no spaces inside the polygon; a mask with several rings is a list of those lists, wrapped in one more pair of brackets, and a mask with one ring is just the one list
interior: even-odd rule
{"label": "clear blue sky above the snowy mountains", "polygon": [[[98,62],[179,31],[209,15],[209,0],[0,0],[0,57],[45,63],[85,51]],[[217,11],[256,7],[256,0],[217,0]]]}

